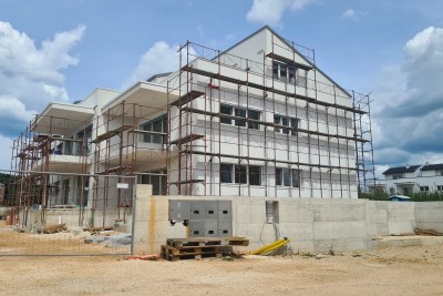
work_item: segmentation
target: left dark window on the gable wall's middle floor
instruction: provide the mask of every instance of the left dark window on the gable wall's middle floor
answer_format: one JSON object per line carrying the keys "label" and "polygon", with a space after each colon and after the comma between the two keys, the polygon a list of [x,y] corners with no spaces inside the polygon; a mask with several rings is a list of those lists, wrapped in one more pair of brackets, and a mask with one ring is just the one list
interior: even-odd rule
{"label": "left dark window on the gable wall's middle floor", "polygon": [[[260,124],[258,122],[255,122],[260,120],[259,111],[220,104],[220,113],[229,115],[229,116],[222,115],[220,123],[246,127],[246,119],[248,119],[250,120],[248,121],[248,129],[260,130]],[[245,120],[233,119],[231,116],[243,118]]]}

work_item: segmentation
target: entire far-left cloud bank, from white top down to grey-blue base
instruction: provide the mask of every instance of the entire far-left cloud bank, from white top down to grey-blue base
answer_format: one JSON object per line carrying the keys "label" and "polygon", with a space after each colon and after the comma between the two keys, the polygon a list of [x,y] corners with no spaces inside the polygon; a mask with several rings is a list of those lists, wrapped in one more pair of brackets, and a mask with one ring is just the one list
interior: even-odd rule
{"label": "entire far-left cloud bank, from white top down to grey-blue base", "polygon": [[[0,21],[1,137],[17,136],[50,101],[69,101],[62,70],[79,63],[70,51],[85,29],[79,25],[35,44],[25,32]],[[6,141],[1,143],[1,154],[10,155]]]}

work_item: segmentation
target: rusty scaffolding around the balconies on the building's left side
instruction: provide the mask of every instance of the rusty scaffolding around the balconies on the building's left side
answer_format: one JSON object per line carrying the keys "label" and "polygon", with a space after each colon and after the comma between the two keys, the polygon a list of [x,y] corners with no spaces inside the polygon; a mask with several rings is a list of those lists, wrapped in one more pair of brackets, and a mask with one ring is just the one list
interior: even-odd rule
{"label": "rusty scaffolding around the balconies on the building's left side", "polygon": [[37,115],[12,145],[10,185],[17,188],[12,203],[19,213],[14,223],[28,225],[29,212],[35,208],[41,210],[43,225],[47,212],[54,208],[79,210],[80,226],[126,222],[136,176],[140,182],[166,180],[163,171],[150,172],[166,166],[166,133],[143,129],[165,113],[122,101],[84,121]]}

